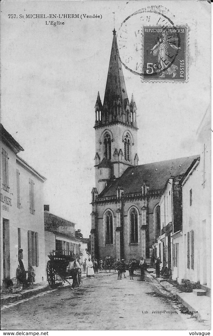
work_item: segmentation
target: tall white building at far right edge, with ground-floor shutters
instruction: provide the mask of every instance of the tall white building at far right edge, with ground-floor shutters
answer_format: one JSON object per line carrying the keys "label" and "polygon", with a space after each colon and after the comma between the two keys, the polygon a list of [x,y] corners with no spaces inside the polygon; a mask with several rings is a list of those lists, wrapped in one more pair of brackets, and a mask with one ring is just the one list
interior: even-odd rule
{"label": "tall white building at far right edge, with ground-floor shutters", "polygon": [[211,116],[208,108],[197,131],[200,163],[182,183],[183,255],[181,278],[211,287]]}

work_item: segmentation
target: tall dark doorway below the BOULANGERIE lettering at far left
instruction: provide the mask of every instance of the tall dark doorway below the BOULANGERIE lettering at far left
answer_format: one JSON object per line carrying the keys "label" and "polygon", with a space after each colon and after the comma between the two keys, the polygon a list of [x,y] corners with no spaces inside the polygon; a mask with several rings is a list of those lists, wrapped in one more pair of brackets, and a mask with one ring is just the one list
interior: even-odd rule
{"label": "tall dark doorway below the BOULANGERIE lettering at far left", "polygon": [[9,220],[3,218],[3,279],[10,279],[10,227]]}

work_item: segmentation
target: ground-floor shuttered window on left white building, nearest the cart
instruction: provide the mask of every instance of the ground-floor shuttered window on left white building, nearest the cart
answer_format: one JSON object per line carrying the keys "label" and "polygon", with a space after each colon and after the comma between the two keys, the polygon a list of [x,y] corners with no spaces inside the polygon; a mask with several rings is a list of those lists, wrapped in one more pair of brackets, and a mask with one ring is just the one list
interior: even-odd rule
{"label": "ground-floor shuttered window on left white building, nearest the cart", "polygon": [[28,264],[39,265],[39,235],[31,230],[28,231]]}

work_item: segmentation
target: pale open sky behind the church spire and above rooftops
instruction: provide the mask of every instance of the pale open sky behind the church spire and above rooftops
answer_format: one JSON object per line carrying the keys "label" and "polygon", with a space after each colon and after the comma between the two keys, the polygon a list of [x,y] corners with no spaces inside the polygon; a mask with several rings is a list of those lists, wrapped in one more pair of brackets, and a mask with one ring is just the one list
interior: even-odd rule
{"label": "pale open sky behind the church spire and above rooftops", "polygon": [[[135,11],[158,6],[159,14]],[[150,7],[151,8],[151,7]],[[142,11],[141,11],[142,12]],[[11,13],[16,17],[11,18]],[[26,18],[26,14],[79,18]],[[188,82],[141,82],[123,67],[137,106],[139,164],[197,155],[196,130],[210,103],[210,4],[197,1],[5,1],[1,3],[1,123],[24,148],[18,155],[47,178],[44,204],[91,229],[95,186],[95,102],[103,102],[115,29],[121,60],[135,60],[134,32],[166,14],[187,26]],[[81,14],[100,15],[84,18]],[[149,13],[150,14],[150,13]],[[148,14],[148,15],[149,15]],[[149,15],[150,16],[150,15]],[[155,17],[156,16],[156,17]],[[49,20],[64,25],[46,25]],[[122,29],[126,29],[127,49]],[[133,35],[132,35],[133,34]]]}

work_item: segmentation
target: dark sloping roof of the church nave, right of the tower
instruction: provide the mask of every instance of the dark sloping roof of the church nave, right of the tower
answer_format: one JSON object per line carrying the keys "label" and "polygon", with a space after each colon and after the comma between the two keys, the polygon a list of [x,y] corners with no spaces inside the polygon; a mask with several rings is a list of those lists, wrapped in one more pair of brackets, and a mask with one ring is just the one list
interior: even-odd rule
{"label": "dark sloping roof of the church nave, right of the tower", "polygon": [[99,197],[116,195],[119,185],[122,185],[124,194],[141,193],[143,182],[149,186],[149,191],[162,190],[169,178],[184,175],[199,158],[199,155],[195,155],[128,167],[120,177],[104,188]]}

